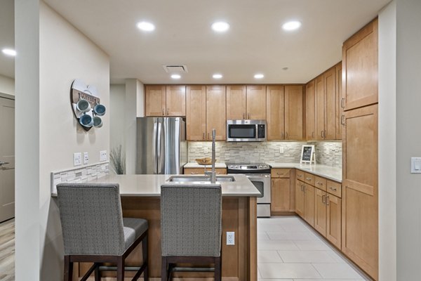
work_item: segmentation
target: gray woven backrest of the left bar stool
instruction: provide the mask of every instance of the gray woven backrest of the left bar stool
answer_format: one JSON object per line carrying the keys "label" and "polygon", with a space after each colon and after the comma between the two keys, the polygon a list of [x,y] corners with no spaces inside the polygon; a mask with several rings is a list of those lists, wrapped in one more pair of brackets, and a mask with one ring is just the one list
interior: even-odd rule
{"label": "gray woven backrest of the left bar stool", "polygon": [[118,184],[60,183],[65,255],[119,255],[125,250]]}

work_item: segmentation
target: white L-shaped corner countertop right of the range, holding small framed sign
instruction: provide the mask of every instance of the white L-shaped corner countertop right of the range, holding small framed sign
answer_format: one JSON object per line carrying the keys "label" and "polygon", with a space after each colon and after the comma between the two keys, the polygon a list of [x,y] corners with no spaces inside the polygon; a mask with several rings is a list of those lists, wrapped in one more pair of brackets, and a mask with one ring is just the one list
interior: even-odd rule
{"label": "white L-shaped corner countertop right of the range, holding small framed sign", "polygon": [[324,178],[329,178],[333,181],[338,181],[342,183],[342,169],[326,166],[322,164],[299,164],[299,163],[276,163],[271,162],[267,163],[272,168],[295,168],[301,171],[308,171],[309,173],[315,174],[316,176],[323,176]]}

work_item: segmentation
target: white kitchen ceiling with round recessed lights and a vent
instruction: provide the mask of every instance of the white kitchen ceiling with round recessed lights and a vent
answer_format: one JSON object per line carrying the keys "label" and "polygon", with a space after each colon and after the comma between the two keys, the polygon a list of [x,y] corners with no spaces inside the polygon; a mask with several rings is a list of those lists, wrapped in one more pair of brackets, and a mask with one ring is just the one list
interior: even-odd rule
{"label": "white kitchen ceiling with round recessed lights and a vent", "polygon": [[[338,63],[342,42],[390,0],[44,1],[109,55],[113,84],[126,78],[145,84],[278,84],[305,83]],[[5,30],[13,29],[9,3],[1,0],[0,48],[13,40]],[[291,19],[302,27],[284,32],[281,24]],[[141,32],[141,20],[156,30]],[[213,32],[216,20],[229,22],[228,32]],[[0,74],[13,77],[13,65],[3,60]],[[187,65],[189,72],[173,80],[162,67],[168,64]],[[216,72],[223,78],[213,79]],[[265,77],[254,79],[257,72]]]}

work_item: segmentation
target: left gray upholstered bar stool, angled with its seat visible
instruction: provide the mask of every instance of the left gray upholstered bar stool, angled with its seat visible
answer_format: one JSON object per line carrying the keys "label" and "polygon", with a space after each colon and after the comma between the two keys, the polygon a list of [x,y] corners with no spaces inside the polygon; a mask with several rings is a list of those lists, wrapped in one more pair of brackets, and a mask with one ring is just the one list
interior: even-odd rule
{"label": "left gray upholstered bar stool, angled with its seat visible", "polygon": [[[116,264],[117,280],[124,280],[124,261],[142,242],[142,265],[133,280],[147,269],[147,221],[123,218],[118,184],[61,183],[57,185],[58,207],[65,244],[65,281],[72,280],[74,262],[91,262],[93,266],[82,277],[95,271],[109,270],[102,263]],[[115,270],[115,267],[113,268]],[[133,269],[133,268],[131,268]]]}

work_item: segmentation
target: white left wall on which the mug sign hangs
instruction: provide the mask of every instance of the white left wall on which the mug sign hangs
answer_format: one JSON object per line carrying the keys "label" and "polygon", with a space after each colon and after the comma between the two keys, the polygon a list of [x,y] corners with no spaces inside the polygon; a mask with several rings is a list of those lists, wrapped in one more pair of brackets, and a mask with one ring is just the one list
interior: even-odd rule
{"label": "white left wall on which the mug sign hangs", "polygon": [[[29,22],[20,13],[28,10],[29,4],[25,0],[16,2],[16,22],[28,27]],[[26,71],[16,76],[17,112],[22,113],[22,107],[28,100],[29,105],[34,107],[24,115],[25,118],[16,118],[16,129],[20,132],[16,141],[16,188],[25,190],[16,192],[17,205],[21,203],[17,206],[16,216],[16,280],[57,281],[62,280],[62,237],[57,205],[55,200],[51,200],[50,173],[72,168],[74,152],[88,152],[90,163],[95,163],[99,162],[100,150],[109,151],[109,114],[102,117],[102,128],[88,132],[81,129],[69,102],[70,85],[77,78],[96,86],[101,103],[109,108],[109,58],[44,2],[39,2],[38,11],[36,4],[31,5],[34,5],[33,9],[27,13],[34,17],[31,24],[39,25],[39,32],[35,27],[26,31],[20,28],[16,34],[16,47],[24,57],[29,50],[22,46],[22,37],[28,36],[29,32],[35,43],[39,39],[39,52],[31,50],[31,55],[38,55],[39,68],[31,65],[31,73]],[[39,23],[35,20],[36,14]],[[33,60],[36,61],[36,58]],[[31,62],[25,60],[21,63],[17,65],[17,71]],[[32,81],[30,87],[23,85],[27,81]],[[39,107],[34,106],[38,104]],[[31,111],[38,116],[32,115]],[[24,133],[25,130],[33,132],[33,135],[28,138],[29,133]],[[24,141],[22,137],[25,136]],[[29,142],[28,145],[28,140],[34,141],[34,144]],[[29,148],[24,148],[23,143]],[[22,155],[24,152],[27,155]],[[29,160],[32,166],[22,163],[23,159]],[[25,179],[18,180],[19,176]],[[25,196],[26,190],[34,196]],[[29,204],[31,208],[27,209],[22,204]],[[28,220],[35,230],[22,226]],[[18,230],[21,230],[20,233]],[[32,239],[34,233],[39,235],[35,235],[37,241]],[[26,239],[31,240],[31,244]],[[32,252],[39,258],[33,259],[32,254],[28,254]],[[26,268],[28,264],[31,264],[29,270]]]}

